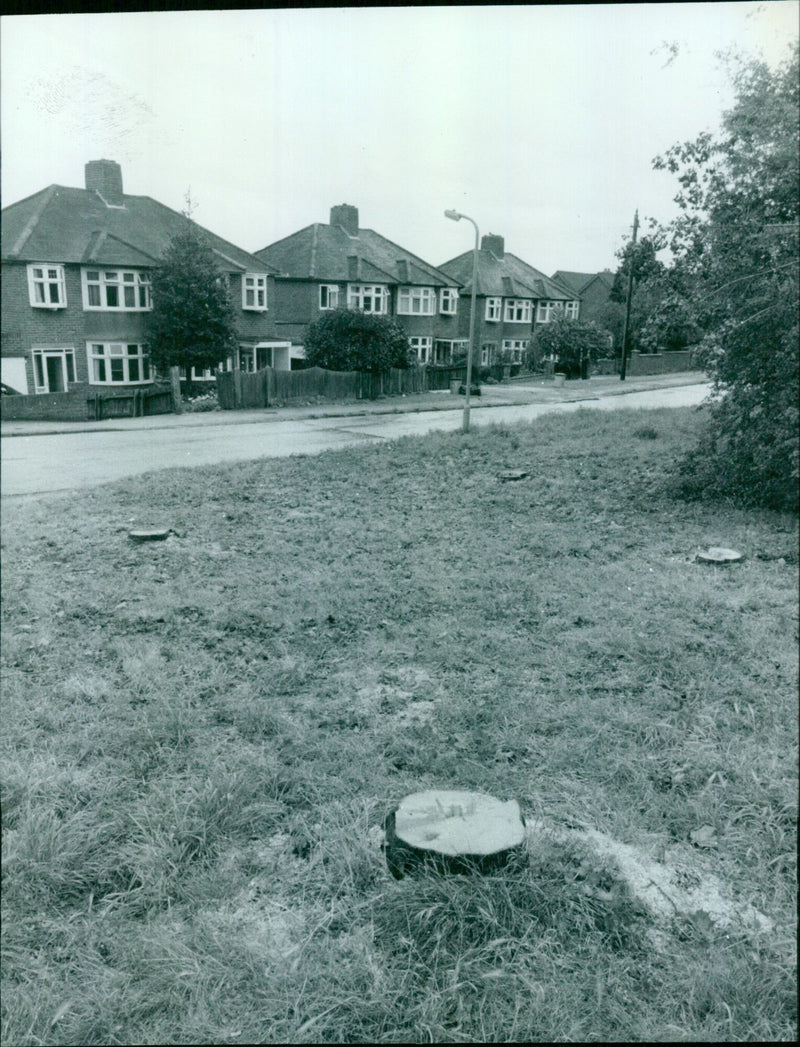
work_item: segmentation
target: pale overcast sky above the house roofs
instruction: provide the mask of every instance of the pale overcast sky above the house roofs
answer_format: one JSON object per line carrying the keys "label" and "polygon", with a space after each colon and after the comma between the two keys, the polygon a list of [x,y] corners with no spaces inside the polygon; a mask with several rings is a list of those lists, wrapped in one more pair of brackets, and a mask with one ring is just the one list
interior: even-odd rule
{"label": "pale overcast sky above the house roofs", "polygon": [[255,251],[334,204],[432,265],[474,230],[552,274],[616,268],[672,218],[670,146],[715,131],[720,52],[775,67],[800,21],[765,3],[333,7],[0,20],[2,201],[125,192]]}

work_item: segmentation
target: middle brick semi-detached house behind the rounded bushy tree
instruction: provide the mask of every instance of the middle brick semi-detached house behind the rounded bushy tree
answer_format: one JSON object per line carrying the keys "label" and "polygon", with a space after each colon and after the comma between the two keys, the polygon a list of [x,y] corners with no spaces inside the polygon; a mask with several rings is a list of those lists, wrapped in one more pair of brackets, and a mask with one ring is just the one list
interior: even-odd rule
{"label": "middle brick semi-detached house behind the rounded bushy tree", "polygon": [[294,359],[304,356],[309,325],[339,308],[397,319],[420,363],[449,360],[466,349],[460,337],[458,282],[358,223],[358,208],[339,204],[331,207],[328,224],[307,225],[255,251],[279,270],[277,326],[291,341]]}

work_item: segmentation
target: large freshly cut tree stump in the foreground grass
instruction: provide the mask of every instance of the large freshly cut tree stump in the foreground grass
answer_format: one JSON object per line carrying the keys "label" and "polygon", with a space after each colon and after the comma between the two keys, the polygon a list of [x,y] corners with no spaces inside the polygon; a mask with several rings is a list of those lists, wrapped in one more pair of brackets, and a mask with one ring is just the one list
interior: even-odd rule
{"label": "large freshly cut tree stump in the foreground grass", "polygon": [[495,872],[525,853],[519,804],[483,793],[414,793],[388,816],[385,830],[386,865],[396,879],[420,868]]}

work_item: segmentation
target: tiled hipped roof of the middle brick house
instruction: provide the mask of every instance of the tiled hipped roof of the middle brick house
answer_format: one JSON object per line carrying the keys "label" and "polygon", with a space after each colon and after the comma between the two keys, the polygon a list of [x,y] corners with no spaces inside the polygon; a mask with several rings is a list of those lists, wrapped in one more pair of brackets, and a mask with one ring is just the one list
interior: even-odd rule
{"label": "tiled hipped roof of the middle brick house", "polygon": [[[458,282],[421,258],[399,247],[373,229],[350,236],[340,225],[315,222],[255,251],[284,276],[294,280],[354,279],[351,259],[358,259],[359,283],[405,284],[425,287],[455,287]],[[401,263],[398,265],[398,263]]]}

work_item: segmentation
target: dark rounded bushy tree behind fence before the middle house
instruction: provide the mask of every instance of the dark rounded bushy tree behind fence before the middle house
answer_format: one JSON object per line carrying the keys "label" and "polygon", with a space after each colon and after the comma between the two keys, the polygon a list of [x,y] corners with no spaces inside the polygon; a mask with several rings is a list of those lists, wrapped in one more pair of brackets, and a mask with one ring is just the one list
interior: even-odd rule
{"label": "dark rounded bushy tree behind fence before the middle house", "polygon": [[306,360],[329,371],[382,374],[409,364],[408,337],[391,316],[334,309],[306,334]]}

